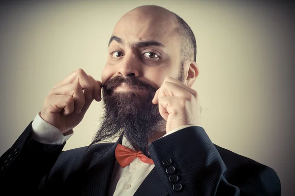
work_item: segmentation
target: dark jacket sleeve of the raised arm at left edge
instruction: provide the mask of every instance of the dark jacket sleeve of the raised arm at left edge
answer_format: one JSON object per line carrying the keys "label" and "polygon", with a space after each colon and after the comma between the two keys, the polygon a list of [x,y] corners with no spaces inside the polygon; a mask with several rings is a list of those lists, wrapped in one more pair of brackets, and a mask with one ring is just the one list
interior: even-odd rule
{"label": "dark jacket sleeve of the raised arm at left edge", "polygon": [[0,190],[9,195],[34,193],[49,173],[62,145],[42,144],[31,138],[32,122],[16,142],[0,157]]}

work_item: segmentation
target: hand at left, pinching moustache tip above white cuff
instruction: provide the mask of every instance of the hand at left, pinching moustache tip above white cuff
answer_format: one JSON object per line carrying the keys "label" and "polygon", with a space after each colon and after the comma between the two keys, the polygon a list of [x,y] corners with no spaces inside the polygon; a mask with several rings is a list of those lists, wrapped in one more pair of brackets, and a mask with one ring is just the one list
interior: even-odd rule
{"label": "hand at left, pinching moustache tip above white cuff", "polygon": [[93,99],[101,100],[101,86],[100,81],[77,69],[50,91],[40,117],[62,133],[72,130],[82,121]]}

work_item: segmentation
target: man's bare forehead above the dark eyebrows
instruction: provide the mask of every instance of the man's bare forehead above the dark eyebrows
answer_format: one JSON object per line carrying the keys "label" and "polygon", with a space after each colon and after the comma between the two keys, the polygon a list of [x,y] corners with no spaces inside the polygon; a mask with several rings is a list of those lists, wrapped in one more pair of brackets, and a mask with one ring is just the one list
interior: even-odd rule
{"label": "man's bare forehead above the dark eyebrows", "polygon": [[168,47],[179,45],[177,24],[167,15],[144,13],[124,15],[114,28],[113,35],[129,43],[157,41]]}

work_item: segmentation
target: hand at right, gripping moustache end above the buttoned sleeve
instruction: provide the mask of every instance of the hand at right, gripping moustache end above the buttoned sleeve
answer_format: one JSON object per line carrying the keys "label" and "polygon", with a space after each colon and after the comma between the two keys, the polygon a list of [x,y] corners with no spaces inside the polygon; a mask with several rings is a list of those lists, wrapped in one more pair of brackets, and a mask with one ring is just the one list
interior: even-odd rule
{"label": "hand at right, gripping moustache end above the buttoned sleeve", "polygon": [[198,93],[174,78],[165,78],[152,103],[159,104],[167,133],[185,125],[201,125]]}

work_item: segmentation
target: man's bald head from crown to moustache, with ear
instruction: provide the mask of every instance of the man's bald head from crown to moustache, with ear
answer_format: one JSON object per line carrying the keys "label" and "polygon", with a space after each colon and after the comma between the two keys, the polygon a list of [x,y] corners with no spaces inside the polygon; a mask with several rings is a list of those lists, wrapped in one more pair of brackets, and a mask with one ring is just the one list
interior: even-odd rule
{"label": "man's bald head from crown to moustache, with ear", "polygon": [[155,5],[124,14],[114,28],[108,49],[106,75],[112,77],[112,70],[115,75],[157,80],[155,87],[161,85],[165,75],[184,82],[189,67],[195,67],[191,62],[196,61],[196,41],[191,29],[175,13]]}

